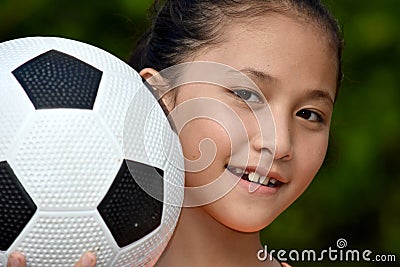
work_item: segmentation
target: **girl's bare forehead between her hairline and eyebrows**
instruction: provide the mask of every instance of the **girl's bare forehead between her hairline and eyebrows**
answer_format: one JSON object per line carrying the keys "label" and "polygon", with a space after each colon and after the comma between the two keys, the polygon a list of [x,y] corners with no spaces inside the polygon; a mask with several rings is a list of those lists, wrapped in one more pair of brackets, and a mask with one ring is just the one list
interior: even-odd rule
{"label": "girl's bare forehead between her hairline and eyebrows", "polygon": [[336,91],[336,51],[330,36],[315,24],[271,14],[232,21],[223,41],[204,49],[197,60],[217,61],[236,69],[251,67],[285,82]]}

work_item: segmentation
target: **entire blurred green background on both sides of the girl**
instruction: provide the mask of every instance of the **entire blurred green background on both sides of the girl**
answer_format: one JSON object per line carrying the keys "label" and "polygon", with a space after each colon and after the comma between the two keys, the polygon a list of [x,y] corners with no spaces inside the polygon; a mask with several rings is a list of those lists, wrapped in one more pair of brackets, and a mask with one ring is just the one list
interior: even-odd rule
{"label": "entire blurred green background on both sides of the girl", "polygon": [[[61,36],[123,60],[148,25],[151,0],[0,0],[0,42]],[[262,231],[269,249],[396,254],[397,263],[292,262],[294,266],[400,266],[400,1],[327,0],[343,27],[345,78],[326,163],[310,188]],[[1,62],[0,62],[1,64]]]}

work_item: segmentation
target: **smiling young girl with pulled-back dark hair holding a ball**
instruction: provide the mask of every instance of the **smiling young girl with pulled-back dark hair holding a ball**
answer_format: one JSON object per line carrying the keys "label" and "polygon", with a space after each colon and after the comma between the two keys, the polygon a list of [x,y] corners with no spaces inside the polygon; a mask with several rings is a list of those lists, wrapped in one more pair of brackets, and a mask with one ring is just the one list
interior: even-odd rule
{"label": "smiling young girl with pulled-back dark hair holding a ball", "polygon": [[[220,177],[239,180],[220,198],[182,208],[157,266],[280,266],[276,260],[258,260],[259,231],[304,192],[324,160],[342,77],[337,22],[317,0],[167,0],[156,7],[130,64],[170,113],[186,164],[212,152],[204,168],[186,170],[186,186],[201,187]],[[152,83],[165,68],[185,62],[224,64],[258,89],[194,83],[164,92]],[[199,99],[211,104],[198,105]],[[233,145],[225,127],[229,116],[201,115],[212,103],[237,115],[247,148],[240,140]],[[193,119],[183,116],[188,107]],[[260,107],[272,112],[273,145],[265,134],[271,129],[257,117]],[[212,140],[211,149],[204,148],[204,140]],[[20,262],[13,266],[24,266],[20,257],[10,257]],[[94,265],[88,253],[76,266]]]}

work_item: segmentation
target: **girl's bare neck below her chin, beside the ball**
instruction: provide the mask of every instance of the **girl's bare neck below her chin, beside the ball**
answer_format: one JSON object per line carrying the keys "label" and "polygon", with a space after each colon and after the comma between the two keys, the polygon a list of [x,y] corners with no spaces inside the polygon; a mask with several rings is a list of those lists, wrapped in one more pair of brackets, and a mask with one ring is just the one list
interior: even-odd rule
{"label": "girl's bare neck below her chin, beside the ball", "polygon": [[157,266],[256,266],[261,248],[258,232],[230,229],[202,207],[183,208]]}

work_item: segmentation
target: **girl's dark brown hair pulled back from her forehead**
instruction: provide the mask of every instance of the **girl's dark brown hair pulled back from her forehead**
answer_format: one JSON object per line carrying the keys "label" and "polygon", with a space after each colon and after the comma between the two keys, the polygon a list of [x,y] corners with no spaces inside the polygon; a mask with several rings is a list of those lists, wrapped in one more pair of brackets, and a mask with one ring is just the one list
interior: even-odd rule
{"label": "girl's dark brown hair pulled back from her forehead", "polygon": [[[161,71],[206,46],[222,42],[224,26],[235,19],[279,13],[323,30],[336,50],[337,89],[342,80],[343,38],[337,20],[319,0],[166,0],[153,5],[153,22],[138,41],[129,64]],[[337,90],[338,91],[338,90]]]}

